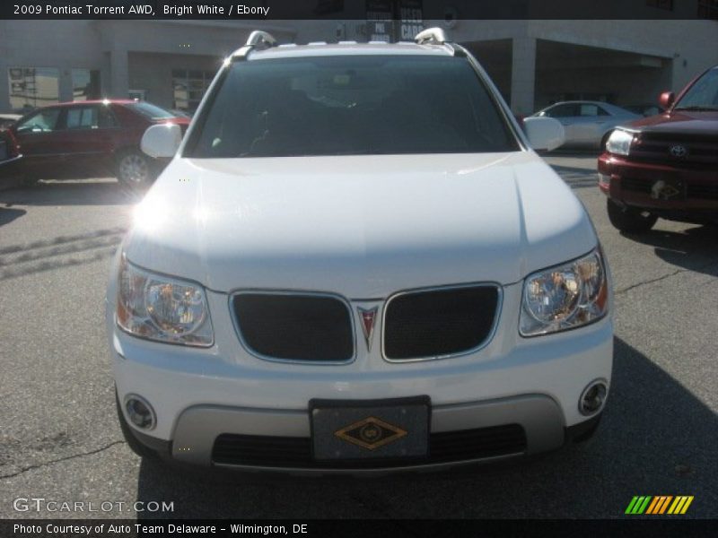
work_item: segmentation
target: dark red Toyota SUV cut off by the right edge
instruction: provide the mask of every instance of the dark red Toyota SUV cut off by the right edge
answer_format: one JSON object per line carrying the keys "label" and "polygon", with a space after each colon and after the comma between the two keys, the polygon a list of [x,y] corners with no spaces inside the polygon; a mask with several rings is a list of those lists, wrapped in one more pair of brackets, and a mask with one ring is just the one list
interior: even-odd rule
{"label": "dark red Toyota SUV cut off by the right edge", "polygon": [[618,230],[650,230],[659,218],[718,222],[718,65],[674,98],[662,93],[664,114],[614,131],[599,158]]}

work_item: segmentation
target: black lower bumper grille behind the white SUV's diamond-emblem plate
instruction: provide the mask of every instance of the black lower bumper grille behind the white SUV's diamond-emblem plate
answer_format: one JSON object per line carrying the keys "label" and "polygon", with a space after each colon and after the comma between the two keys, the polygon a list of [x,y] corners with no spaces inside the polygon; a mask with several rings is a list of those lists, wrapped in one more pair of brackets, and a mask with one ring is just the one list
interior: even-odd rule
{"label": "black lower bumper grille behind the white SUV's diamond-emblem plate", "polygon": [[429,436],[429,456],[422,459],[317,462],[311,438],[287,438],[223,433],[215,439],[215,464],[293,468],[382,468],[411,464],[460,462],[519,454],[526,450],[526,433],[519,424],[477,430],[447,431]]}

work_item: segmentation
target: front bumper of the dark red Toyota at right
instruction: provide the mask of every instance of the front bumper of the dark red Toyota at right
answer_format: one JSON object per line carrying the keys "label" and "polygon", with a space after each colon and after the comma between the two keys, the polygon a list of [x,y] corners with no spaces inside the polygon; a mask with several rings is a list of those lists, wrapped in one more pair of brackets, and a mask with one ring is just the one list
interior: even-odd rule
{"label": "front bumper of the dark red Toyota at right", "polygon": [[656,213],[674,211],[705,216],[718,213],[716,170],[631,161],[630,157],[609,153],[599,157],[598,169],[600,190],[621,204]]}

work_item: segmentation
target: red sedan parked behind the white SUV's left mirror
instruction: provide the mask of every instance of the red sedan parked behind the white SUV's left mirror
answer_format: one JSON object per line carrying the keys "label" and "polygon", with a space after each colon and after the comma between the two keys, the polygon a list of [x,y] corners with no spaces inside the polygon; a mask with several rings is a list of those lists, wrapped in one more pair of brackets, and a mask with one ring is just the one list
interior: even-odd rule
{"label": "red sedan parked behind the white SUV's left mirror", "polygon": [[14,170],[27,180],[110,175],[143,186],[165,164],[140,151],[144,131],[157,123],[180,124],[184,131],[189,119],[144,101],[61,103],[22,117],[0,134],[0,145],[5,158],[22,156]]}

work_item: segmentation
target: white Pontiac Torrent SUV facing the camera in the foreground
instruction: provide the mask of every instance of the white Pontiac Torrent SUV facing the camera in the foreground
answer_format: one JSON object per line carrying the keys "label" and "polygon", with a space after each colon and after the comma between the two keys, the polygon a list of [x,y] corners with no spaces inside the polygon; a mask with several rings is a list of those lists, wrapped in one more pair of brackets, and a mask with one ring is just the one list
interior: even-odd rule
{"label": "white Pontiac Torrent SUV facing the camera in the foreground", "polygon": [[465,48],[227,58],[138,205],[107,294],[118,415],[142,456],[377,473],[591,435],[609,271],[582,204]]}

